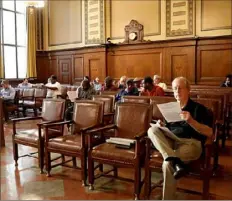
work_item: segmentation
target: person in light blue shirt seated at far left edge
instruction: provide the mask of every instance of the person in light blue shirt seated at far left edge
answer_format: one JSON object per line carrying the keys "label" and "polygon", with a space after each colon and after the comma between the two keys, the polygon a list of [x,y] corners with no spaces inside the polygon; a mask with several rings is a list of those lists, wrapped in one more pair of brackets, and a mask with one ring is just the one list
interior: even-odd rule
{"label": "person in light blue shirt seated at far left edge", "polygon": [[15,89],[12,88],[9,84],[8,80],[2,80],[2,90],[0,92],[0,97],[3,99],[3,112],[5,115],[5,121],[9,119],[8,112],[7,112],[7,106],[14,104],[15,99]]}

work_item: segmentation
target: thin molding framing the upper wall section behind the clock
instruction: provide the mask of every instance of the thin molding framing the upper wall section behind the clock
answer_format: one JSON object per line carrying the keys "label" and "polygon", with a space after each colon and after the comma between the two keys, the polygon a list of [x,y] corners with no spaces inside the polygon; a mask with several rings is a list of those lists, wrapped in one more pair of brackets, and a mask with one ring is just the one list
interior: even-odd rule
{"label": "thin molding framing the upper wall section behind the clock", "polygon": [[[110,36],[112,36],[112,1],[110,0]],[[161,35],[161,0],[157,0],[159,2],[158,5],[158,32],[154,32],[154,33],[148,33],[148,34],[144,34],[144,36],[157,36],[157,35]],[[115,37],[110,37],[112,40],[118,40],[118,39],[124,39],[124,36],[115,36]]]}

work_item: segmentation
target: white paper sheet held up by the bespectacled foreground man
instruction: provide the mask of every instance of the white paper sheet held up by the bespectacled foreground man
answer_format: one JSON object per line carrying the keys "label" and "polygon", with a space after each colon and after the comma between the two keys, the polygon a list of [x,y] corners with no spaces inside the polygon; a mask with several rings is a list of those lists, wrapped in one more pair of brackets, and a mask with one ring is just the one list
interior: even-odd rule
{"label": "white paper sheet held up by the bespectacled foreground man", "polygon": [[157,107],[159,108],[161,114],[163,115],[163,117],[168,123],[183,121],[180,117],[180,112],[181,112],[180,103],[169,102],[169,103],[157,104]]}

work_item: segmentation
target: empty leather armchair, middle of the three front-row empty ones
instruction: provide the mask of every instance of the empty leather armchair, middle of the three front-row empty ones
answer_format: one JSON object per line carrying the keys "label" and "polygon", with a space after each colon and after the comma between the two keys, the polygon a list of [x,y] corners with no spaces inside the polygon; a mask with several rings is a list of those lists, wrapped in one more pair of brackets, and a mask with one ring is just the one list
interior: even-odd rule
{"label": "empty leather armchair, middle of the three front-row empty ones", "polygon": [[[88,141],[85,132],[89,129],[99,127],[102,125],[103,119],[102,102],[91,100],[75,101],[73,120],[60,123],[53,123],[44,125],[46,129],[45,134],[45,150],[46,150],[46,170],[47,176],[50,175],[52,167],[57,165],[65,165],[70,160],[63,160],[59,164],[51,165],[51,153],[60,153],[64,156],[71,156],[73,167],[76,167],[76,157],[81,159],[81,180],[83,186],[86,185],[87,179],[87,150]],[[53,126],[61,126],[65,124],[72,124],[71,135],[62,135],[60,137],[49,139],[49,128]],[[103,136],[95,137],[94,144],[99,144],[104,141]]]}

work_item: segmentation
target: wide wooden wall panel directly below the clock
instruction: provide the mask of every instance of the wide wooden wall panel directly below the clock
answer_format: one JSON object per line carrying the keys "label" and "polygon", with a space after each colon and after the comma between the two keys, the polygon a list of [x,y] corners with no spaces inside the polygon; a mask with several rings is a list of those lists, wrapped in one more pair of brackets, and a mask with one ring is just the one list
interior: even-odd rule
{"label": "wide wooden wall panel directly below the clock", "polygon": [[127,50],[109,52],[107,56],[107,73],[115,79],[122,75],[128,77],[145,77],[162,74],[163,50]]}

